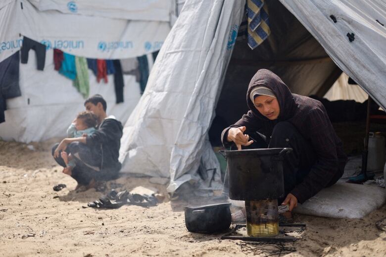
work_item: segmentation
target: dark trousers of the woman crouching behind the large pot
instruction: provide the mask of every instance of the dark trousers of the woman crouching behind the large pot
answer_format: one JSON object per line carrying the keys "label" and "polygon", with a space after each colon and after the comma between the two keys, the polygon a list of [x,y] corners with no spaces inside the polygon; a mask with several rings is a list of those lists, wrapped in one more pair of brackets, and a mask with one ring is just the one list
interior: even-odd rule
{"label": "dark trousers of the woman crouching behind the large pot", "polygon": [[[290,122],[282,121],[276,124],[269,141],[259,133],[252,133],[249,136],[256,142],[248,147],[242,147],[243,149],[284,147],[293,149],[292,152],[284,156],[283,160],[284,197],[286,197],[297,184],[303,182],[303,179],[316,162],[315,151],[310,142],[305,140]],[[223,187],[223,194],[225,195],[229,195],[229,178],[227,173],[225,174]],[[335,184],[338,179],[339,176],[333,178],[327,186]],[[284,198],[279,199],[279,204],[281,204],[283,200]]]}

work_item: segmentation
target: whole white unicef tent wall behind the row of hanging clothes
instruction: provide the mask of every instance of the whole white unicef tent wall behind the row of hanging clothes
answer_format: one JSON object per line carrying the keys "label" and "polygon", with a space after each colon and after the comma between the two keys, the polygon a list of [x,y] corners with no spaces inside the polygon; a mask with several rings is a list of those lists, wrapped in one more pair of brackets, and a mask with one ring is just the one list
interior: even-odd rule
{"label": "whole white unicef tent wall behind the row of hanging clothes", "polygon": [[[142,16],[143,20],[106,18],[101,14],[67,14],[57,10],[39,11],[36,8],[40,3],[47,6],[43,4],[49,2],[62,1],[0,1],[0,62],[20,49],[23,36],[47,45],[44,71],[37,70],[34,50],[29,51],[28,63],[20,64],[22,96],[6,101],[5,122],[0,124],[0,138],[3,140],[28,143],[64,137],[77,112],[84,110],[85,99],[72,85],[72,80],[53,69],[52,48],[99,59],[149,56],[160,49],[171,28],[169,21],[162,21],[164,17],[156,18],[152,13],[162,6],[171,7],[173,4],[166,2],[174,0],[164,3],[159,0],[137,1],[137,4],[125,5],[126,9],[120,10],[136,12],[138,8],[144,11],[148,8],[147,14]],[[76,2],[83,6],[91,1]],[[123,1],[119,2],[122,4]],[[98,3],[96,8],[100,7],[101,1]],[[167,13],[173,13],[173,10]],[[161,21],[154,21],[156,19]],[[151,65],[152,58],[148,59],[151,59]],[[135,77],[124,76],[124,103],[116,104],[113,75],[108,75],[108,83],[97,83],[95,75],[91,71],[89,73],[90,95],[101,94],[107,101],[108,114],[125,123],[141,97],[140,85]]]}

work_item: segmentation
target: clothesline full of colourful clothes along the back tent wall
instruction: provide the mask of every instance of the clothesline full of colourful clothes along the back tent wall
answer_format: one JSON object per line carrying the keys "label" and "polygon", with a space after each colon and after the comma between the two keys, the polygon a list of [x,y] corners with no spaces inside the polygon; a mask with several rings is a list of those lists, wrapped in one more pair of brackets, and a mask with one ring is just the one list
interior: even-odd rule
{"label": "clothesline full of colourful clothes along the back tent wall", "polygon": [[[0,123],[5,121],[6,99],[21,96],[19,87],[19,64],[28,62],[30,50],[34,50],[37,58],[37,69],[44,70],[46,62],[46,45],[28,37],[23,37],[23,44],[19,51],[0,62]],[[158,51],[152,53],[153,61]],[[128,58],[122,60],[102,60],[65,53],[59,49],[53,49],[54,70],[68,77],[84,98],[89,96],[90,77],[88,70],[92,70],[97,77],[97,82],[108,82],[107,75],[114,75],[114,89],[116,103],[122,103],[124,80],[123,75],[134,75],[139,82],[141,94],[145,90],[149,76],[149,63],[147,56]]]}

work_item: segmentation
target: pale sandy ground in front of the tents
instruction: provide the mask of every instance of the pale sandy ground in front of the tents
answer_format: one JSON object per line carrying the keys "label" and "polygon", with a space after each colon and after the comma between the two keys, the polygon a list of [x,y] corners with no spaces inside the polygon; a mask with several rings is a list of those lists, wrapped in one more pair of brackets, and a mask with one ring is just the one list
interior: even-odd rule
{"label": "pale sandy ground in front of the tents", "polygon": [[[167,200],[147,209],[84,209],[102,193],[75,192],[75,181],[50,156],[51,143],[32,144],[31,150],[0,141],[0,256],[386,256],[386,232],[375,226],[386,206],[359,220],[297,215],[295,221],[307,225],[302,240],[281,244],[188,232],[183,207],[207,202],[202,199]],[[58,183],[67,187],[55,192]],[[152,186],[165,193],[165,186],[147,179],[122,177],[108,185]]]}

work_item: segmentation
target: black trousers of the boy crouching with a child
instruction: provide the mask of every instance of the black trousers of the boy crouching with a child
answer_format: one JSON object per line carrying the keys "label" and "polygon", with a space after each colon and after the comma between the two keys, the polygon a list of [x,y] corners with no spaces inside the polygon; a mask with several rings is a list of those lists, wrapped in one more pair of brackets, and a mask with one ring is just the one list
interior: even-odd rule
{"label": "black trousers of the boy crouching with a child", "polygon": [[[52,147],[52,156],[58,145],[57,143]],[[100,179],[101,171],[95,170],[94,167],[100,167],[101,157],[93,153],[89,147],[79,142],[73,142],[67,146],[65,151],[74,157],[76,166],[72,169],[71,177],[78,184],[88,185],[93,179]],[[59,157],[54,159],[60,166],[66,167],[60,153],[61,151],[59,151]]]}

